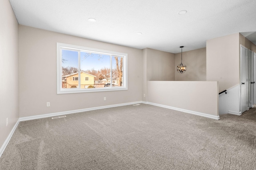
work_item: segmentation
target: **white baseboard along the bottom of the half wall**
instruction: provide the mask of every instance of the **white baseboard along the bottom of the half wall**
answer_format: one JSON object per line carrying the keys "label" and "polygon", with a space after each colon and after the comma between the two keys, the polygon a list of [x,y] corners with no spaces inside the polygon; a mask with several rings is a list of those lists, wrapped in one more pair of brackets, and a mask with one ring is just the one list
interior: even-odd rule
{"label": "white baseboard along the bottom of the half wall", "polygon": [[176,107],[165,106],[165,105],[155,104],[155,103],[151,103],[151,102],[146,102],[146,104],[159,106],[159,107],[164,107],[164,108],[167,108],[167,109],[172,109],[172,110],[177,110],[177,111],[182,111],[182,112],[185,112],[185,113],[190,113],[190,114],[198,115],[198,116],[202,116],[202,117],[208,117],[208,118],[211,118],[211,119],[216,119],[216,120],[220,119],[220,116],[209,115],[209,114],[206,114],[206,113],[200,113],[200,112],[196,112],[196,111],[180,109],[180,108],[176,108]]}

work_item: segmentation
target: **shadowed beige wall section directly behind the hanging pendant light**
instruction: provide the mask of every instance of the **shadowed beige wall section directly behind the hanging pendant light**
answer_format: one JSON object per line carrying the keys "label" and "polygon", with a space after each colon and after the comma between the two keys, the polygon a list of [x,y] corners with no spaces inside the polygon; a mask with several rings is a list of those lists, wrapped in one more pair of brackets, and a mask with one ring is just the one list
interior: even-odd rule
{"label": "shadowed beige wall section directly behind the hanging pendant light", "polygon": [[186,64],[184,73],[177,72],[177,65],[181,62],[181,53],[175,54],[176,81],[206,81],[206,48],[182,52],[182,64]]}

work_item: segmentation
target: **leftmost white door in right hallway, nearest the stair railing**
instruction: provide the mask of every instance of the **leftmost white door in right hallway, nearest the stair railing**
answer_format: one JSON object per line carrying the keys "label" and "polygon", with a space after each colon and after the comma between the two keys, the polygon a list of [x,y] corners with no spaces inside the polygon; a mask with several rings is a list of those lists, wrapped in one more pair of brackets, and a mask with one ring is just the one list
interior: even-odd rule
{"label": "leftmost white door in right hallway, nearest the stair railing", "polygon": [[247,56],[248,49],[241,45],[240,48],[240,70],[241,70],[241,82],[240,82],[240,89],[241,89],[241,113],[248,110],[248,56]]}

